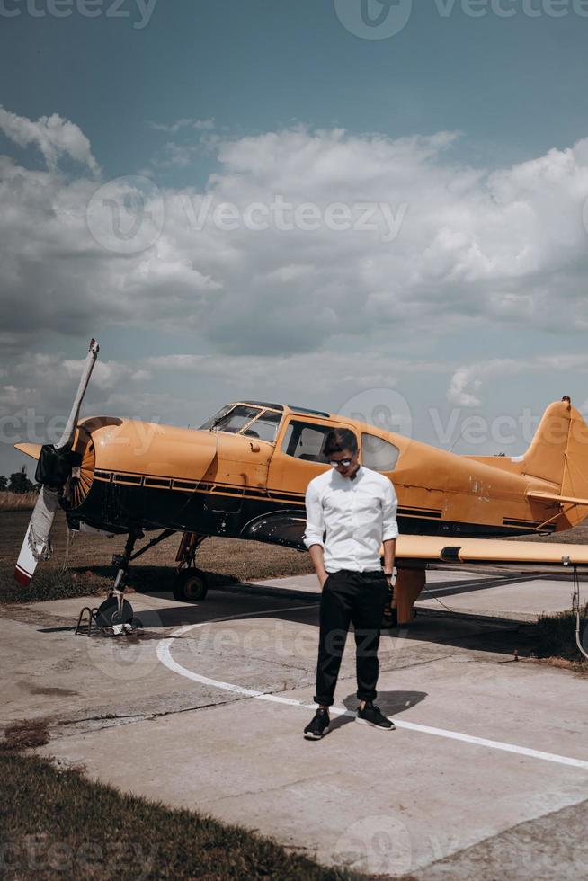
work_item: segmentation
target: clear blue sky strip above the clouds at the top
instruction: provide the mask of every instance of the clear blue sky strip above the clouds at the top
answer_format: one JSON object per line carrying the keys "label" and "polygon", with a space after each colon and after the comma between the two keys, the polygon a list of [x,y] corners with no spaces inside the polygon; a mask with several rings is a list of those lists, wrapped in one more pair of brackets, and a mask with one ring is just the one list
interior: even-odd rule
{"label": "clear blue sky strip above the clouds at the top", "polygon": [[477,19],[459,3],[442,18],[427,0],[389,40],[352,35],[329,0],[159,0],[141,30],[131,0],[129,18],[107,18],[111,4],[95,19],[33,19],[22,5],[2,22],[0,61],[4,106],[75,120],[110,174],[150,159],[161,138],[147,120],[213,117],[237,132],[299,120],[393,138],[460,129],[466,152],[495,165],[585,134],[588,19],[571,4],[564,18]]}

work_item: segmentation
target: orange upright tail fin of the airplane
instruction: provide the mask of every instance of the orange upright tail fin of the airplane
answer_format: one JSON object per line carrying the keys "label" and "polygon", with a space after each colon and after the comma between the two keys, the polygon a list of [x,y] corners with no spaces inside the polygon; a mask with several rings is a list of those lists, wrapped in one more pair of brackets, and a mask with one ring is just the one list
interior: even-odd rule
{"label": "orange upright tail fin of the airplane", "polygon": [[578,500],[564,506],[570,527],[588,516],[579,503],[588,498],[588,425],[569,397],[548,406],[520,467],[523,475],[556,484],[557,495]]}

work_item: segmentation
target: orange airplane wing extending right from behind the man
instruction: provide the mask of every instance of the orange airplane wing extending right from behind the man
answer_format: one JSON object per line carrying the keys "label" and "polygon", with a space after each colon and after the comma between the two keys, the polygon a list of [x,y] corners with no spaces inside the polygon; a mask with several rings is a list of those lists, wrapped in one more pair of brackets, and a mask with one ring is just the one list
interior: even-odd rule
{"label": "orange airplane wing extending right from behind the man", "polygon": [[588,545],[556,541],[515,541],[504,538],[401,535],[396,560],[473,565],[557,565],[588,569]]}

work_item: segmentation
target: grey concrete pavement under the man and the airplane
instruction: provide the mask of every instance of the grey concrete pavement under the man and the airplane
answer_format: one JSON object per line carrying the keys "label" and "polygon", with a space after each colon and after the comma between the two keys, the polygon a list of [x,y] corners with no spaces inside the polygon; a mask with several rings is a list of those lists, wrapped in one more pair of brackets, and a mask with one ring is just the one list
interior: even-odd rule
{"label": "grey concrete pavement under the man and the airplane", "polygon": [[[432,572],[412,627],[382,636],[380,732],[353,721],[353,640],[322,742],[314,578],[134,594],[137,635],[74,636],[80,600],[2,611],[2,722],[48,718],[40,752],[325,863],[419,878],[584,878],[588,681],[512,660],[571,584]],[[441,607],[441,600],[449,611]],[[92,602],[95,601],[93,598]],[[521,623],[522,622],[522,623]]]}

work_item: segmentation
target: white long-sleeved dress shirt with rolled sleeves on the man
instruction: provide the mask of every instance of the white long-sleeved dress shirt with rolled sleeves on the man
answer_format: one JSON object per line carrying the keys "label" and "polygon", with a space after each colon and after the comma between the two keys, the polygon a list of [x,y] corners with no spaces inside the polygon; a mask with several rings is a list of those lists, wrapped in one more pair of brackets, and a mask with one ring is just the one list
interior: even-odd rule
{"label": "white long-sleeved dress shirt with rolled sleeves on the man", "polygon": [[379,569],[382,541],[398,535],[397,506],[394,486],[378,471],[360,466],[354,480],[325,471],[308,484],[304,543],[324,548],[329,573]]}

